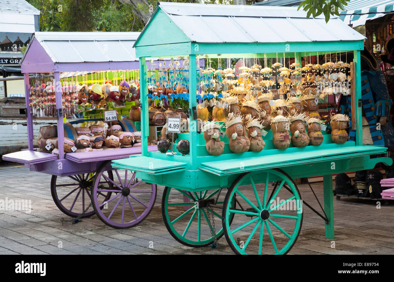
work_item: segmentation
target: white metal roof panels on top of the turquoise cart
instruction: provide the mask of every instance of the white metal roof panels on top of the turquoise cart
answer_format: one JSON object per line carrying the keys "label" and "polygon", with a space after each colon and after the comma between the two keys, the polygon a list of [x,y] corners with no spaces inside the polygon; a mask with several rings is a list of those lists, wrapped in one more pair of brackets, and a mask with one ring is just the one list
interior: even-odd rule
{"label": "white metal roof panels on top of the turquoise cart", "polygon": [[160,2],[192,42],[310,42],[362,40],[338,17],[306,19],[296,7]]}

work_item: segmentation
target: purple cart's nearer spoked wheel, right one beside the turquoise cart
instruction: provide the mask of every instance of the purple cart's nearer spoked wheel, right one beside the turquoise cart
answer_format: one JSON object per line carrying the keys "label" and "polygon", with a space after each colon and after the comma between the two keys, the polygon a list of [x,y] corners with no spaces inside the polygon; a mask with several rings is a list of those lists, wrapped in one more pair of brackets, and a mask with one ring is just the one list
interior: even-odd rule
{"label": "purple cart's nearer spoked wheel, right one beside the turquoise cart", "polygon": [[[136,173],[113,169],[110,178],[108,163],[97,171],[93,181],[92,202],[97,216],[113,228],[129,228],[139,224],[151,212],[156,201],[156,184],[145,184]],[[100,202],[97,193],[112,193],[106,202]]]}

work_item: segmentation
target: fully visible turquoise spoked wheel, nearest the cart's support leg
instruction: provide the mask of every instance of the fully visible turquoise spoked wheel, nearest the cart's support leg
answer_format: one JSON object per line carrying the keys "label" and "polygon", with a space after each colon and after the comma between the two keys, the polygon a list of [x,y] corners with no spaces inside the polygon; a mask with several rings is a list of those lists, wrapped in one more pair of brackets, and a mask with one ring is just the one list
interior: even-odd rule
{"label": "fully visible turquoise spoked wheel, nearest the cart's support leg", "polygon": [[[234,197],[237,208],[230,204]],[[280,169],[243,173],[226,194],[222,217],[236,254],[286,254],[301,230],[302,200],[297,185]]]}

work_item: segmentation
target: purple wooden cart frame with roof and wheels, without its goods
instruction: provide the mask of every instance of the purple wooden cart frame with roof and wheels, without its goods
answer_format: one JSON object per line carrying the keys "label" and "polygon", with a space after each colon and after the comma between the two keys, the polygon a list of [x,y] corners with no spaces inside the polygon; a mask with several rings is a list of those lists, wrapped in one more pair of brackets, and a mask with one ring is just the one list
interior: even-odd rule
{"label": "purple wooden cart frame with roof and wheels, without its goods", "polygon": [[[141,184],[135,173],[112,169],[110,165],[111,160],[140,154],[141,147],[64,154],[62,93],[60,87],[56,87],[59,155],[37,152],[33,148],[32,114],[27,110],[29,74],[52,72],[54,85],[57,85],[63,72],[138,70],[139,62],[132,48],[138,35],[138,32],[36,32],[21,61],[28,150],[3,156],[4,160],[24,163],[31,171],[51,174],[52,197],[63,213],[71,217],[89,217],[96,213],[114,228],[140,223],[154,206],[156,185]],[[123,131],[131,130],[123,128]],[[148,147],[148,150],[157,150],[157,146]]]}

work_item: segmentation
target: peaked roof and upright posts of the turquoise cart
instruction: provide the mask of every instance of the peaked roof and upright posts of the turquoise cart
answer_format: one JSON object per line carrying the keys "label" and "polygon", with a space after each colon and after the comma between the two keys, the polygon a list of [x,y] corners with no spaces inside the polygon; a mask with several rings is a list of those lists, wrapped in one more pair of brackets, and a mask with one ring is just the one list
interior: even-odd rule
{"label": "peaked roof and upright posts of the turquoise cart", "polygon": [[[185,24],[185,23],[188,24]],[[259,26],[260,28],[256,28]],[[283,28],[286,27],[286,28]],[[331,32],[330,32],[331,31]],[[332,32],[336,31],[336,32]],[[340,32],[338,32],[340,31]],[[171,36],[170,36],[171,35]],[[154,38],[154,41],[152,41]],[[315,56],[331,52],[354,53],[355,72],[360,73],[360,50],[365,37],[333,18],[326,24],[323,17],[306,19],[306,12],[294,7],[249,7],[206,4],[179,4],[160,2],[151,19],[139,35],[134,47],[140,58],[141,70],[146,69],[145,58],[156,56],[189,55],[190,99],[189,108],[197,106],[195,59],[208,54],[211,58],[278,58]],[[323,63],[323,62],[322,62]],[[359,75],[355,78],[355,90],[360,95]],[[141,81],[146,81],[143,78]],[[146,93],[146,83],[141,93]],[[146,96],[141,94],[141,96]],[[356,100],[361,96],[354,97]],[[143,103],[142,124],[147,124],[148,101]],[[360,108],[355,115],[361,116]],[[190,158],[180,157],[191,168],[199,167],[197,161],[197,132],[191,119]],[[361,119],[357,120],[357,129]],[[142,128],[143,139],[148,135],[147,126]],[[357,134],[361,145],[361,131]],[[143,147],[143,156],[148,156]],[[151,154],[149,154],[151,156]],[[169,158],[168,156],[164,156]],[[161,157],[161,158],[164,158]],[[170,156],[177,159],[178,156]]]}

